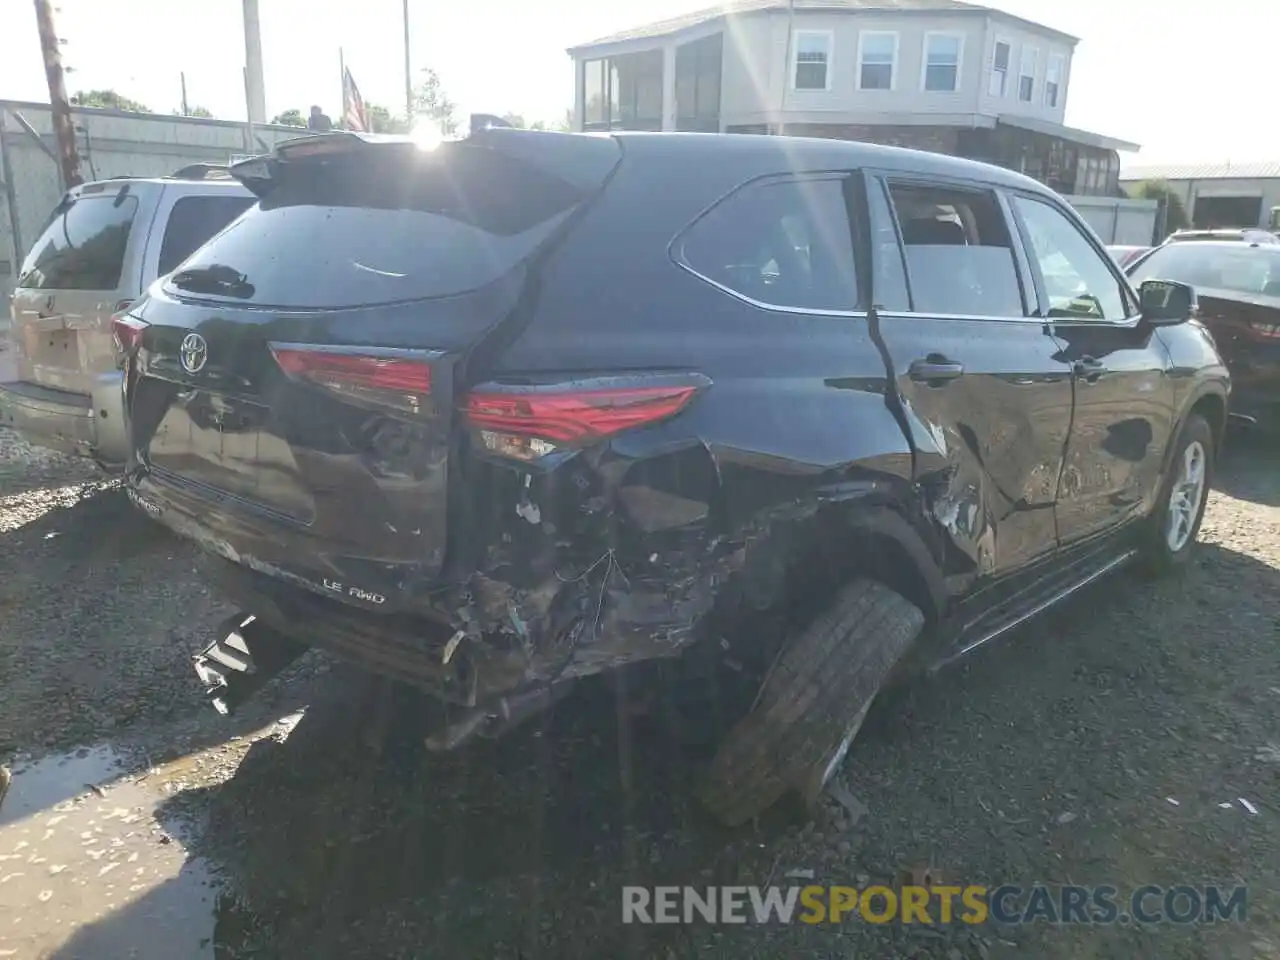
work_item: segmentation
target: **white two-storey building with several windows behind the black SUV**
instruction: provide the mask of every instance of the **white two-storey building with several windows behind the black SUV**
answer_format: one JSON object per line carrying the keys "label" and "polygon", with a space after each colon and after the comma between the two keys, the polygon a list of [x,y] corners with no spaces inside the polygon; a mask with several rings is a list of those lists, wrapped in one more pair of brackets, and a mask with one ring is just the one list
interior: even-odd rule
{"label": "white two-storey building with several windows behind the black SUV", "polygon": [[568,52],[579,129],[864,140],[1112,195],[1138,146],[1064,125],[1076,42],[960,0],[730,0]]}

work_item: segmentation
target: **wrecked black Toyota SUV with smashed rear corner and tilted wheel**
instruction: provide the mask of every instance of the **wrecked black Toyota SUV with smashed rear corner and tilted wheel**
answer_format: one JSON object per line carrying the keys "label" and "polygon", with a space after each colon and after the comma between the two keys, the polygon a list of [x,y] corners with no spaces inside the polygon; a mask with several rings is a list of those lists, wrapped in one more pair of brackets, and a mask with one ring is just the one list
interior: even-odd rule
{"label": "wrecked black Toyota SUV with smashed rear corner and tilted wheel", "polygon": [[509,129],[234,173],[256,206],[116,324],[131,494],[243,611],[197,658],[224,709],[320,646],[448,704],[443,748],[710,649],[756,685],[699,786],[741,822],[904,664],[1193,549],[1194,293],[1019,174]]}

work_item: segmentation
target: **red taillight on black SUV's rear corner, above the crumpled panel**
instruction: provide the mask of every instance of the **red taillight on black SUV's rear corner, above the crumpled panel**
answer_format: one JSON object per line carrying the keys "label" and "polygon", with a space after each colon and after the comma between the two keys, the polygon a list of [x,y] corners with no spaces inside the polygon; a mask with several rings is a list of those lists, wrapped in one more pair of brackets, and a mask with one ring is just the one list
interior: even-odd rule
{"label": "red taillight on black SUV's rear corner, above the crumpled panel", "polygon": [[582,447],[648,426],[680,412],[696,384],[653,387],[481,388],[467,396],[463,416],[485,449],[536,460],[562,447]]}

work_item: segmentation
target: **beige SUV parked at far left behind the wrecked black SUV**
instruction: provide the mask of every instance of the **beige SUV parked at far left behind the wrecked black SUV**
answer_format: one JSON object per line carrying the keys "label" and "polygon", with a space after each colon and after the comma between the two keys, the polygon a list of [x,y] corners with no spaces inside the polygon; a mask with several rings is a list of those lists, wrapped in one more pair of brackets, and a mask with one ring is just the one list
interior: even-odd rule
{"label": "beige SUV parked at far left behind the wrecked black SUV", "polygon": [[17,381],[0,425],[109,470],[124,463],[111,316],[253,202],[225,168],[120,177],[68,191],[31,247],[12,301]]}

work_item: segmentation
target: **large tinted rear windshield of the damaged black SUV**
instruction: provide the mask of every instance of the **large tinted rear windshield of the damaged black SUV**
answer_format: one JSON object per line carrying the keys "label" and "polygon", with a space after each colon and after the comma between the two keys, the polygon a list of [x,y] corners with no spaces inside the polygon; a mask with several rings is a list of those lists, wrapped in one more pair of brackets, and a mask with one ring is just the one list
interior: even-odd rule
{"label": "large tinted rear windshield of the damaged black SUV", "polygon": [[283,166],[275,189],[197,250],[172,287],[292,308],[448,297],[511,270],[582,200],[529,164],[463,145]]}

